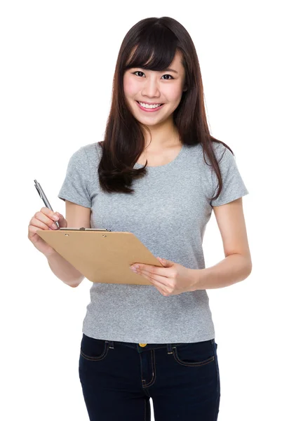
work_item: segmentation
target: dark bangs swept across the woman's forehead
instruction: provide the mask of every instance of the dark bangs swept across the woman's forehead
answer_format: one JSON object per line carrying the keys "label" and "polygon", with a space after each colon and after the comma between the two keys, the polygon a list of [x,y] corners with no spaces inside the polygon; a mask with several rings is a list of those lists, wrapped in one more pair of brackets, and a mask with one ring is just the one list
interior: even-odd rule
{"label": "dark bangs swept across the woman's forehead", "polygon": [[149,28],[132,49],[124,70],[132,67],[161,72],[169,67],[177,50],[177,38],[161,26]]}

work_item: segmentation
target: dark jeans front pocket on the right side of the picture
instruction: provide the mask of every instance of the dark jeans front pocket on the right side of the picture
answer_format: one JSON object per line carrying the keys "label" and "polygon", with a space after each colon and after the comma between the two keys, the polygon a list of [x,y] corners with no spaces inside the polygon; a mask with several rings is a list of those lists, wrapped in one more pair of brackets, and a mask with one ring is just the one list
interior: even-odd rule
{"label": "dark jeans front pocket on the right side of the picture", "polygon": [[173,347],[173,354],[182,366],[205,366],[215,360],[211,340],[177,345]]}

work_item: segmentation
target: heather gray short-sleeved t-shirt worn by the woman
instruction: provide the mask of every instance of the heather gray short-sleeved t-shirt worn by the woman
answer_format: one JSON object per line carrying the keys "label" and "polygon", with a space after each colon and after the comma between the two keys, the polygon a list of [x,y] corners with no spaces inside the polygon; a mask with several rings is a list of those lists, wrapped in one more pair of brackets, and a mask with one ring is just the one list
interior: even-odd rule
{"label": "heather gray short-sleeved t-shirt worn by the woman", "polygon": [[[203,269],[203,235],[212,206],[248,194],[229,149],[215,142],[214,148],[218,160],[226,149],[216,201],[207,199],[217,192],[217,176],[203,160],[201,145],[183,145],[170,163],[147,167],[147,175],[133,181],[134,194],[108,194],[100,189],[102,151],[96,142],[72,154],[58,197],[91,208],[92,228],[133,232],[155,257]],[[120,283],[93,283],[82,331],[91,338],[154,344],[215,338],[206,290],[164,296],[153,285]]]}

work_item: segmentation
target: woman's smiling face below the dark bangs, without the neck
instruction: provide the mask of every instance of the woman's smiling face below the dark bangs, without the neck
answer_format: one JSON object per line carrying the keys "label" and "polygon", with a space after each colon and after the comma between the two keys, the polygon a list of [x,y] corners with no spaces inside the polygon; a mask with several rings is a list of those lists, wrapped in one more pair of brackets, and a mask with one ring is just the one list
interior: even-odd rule
{"label": "woman's smiling face below the dark bangs, without the neck", "polygon": [[[124,73],[123,89],[126,101],[133,116],[140,123],[147,126],[163,123],[179,105],[185,90],[185,69],[181,60],[182,55],[177,52],[166,71],[155,72],[134,67]],[[152,104],[162,105],[149,107]]]}

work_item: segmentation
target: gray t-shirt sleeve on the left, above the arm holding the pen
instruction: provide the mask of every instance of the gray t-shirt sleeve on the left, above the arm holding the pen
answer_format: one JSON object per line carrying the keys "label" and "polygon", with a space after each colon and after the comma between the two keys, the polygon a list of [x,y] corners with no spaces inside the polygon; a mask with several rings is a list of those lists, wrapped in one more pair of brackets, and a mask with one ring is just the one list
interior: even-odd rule
{"label": "gray t-shirt sleeve on the left, above the arm holding the pen", "polygon": [[69,159],[65,180],[58,198],[91,208],[89,192],[90,168],[86,151],[81,147]]}

